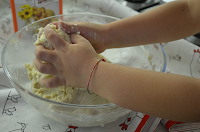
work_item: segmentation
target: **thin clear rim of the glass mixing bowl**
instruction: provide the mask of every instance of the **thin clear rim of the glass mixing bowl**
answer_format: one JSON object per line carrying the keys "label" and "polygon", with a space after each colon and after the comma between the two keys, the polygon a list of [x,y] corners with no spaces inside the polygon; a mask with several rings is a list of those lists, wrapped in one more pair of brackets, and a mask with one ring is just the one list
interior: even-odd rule
{"label": "thin clear rim of the glass mixing bowl", "polygon": [[[89,16],[99,16],[99,17],[105,17],[105,18],[111,18],[111,19],[115,19],[115,20],[119,20],[119,18],[117,17],[113,17],[113,16],[108,16],[108,15],[101,15],[101,14],[92,14],[92,13],[74,13],[74,14],[66,14],[66,15],[55,15],[55,16],[52,16],[52,17],[48,17],[48,18],[44,18],[44,19],[41,19],[39,21],[36,21],[34,23],[38,23],[40,21],[43,21],[45,19],[49,19],[49,18],[54,18],[54,17],[62,17],[62,16],[79,16],[79,15],[89,15]],[[25,27],[23,27],[22,29],[18,30],[16,33],[14,33],[9,39],[8,41],[6,42],[4,48],[3,48],[3,51],[2,51],[2,56],[1,56],[1,60],[2,60],[2,67],[3,67],[3,70],[4,72],[6,73],[6,75],[8,76],[8,78],[10,79],[11,83],[15,86],[15,87],[18,87],[22,92],[24,92],[25,94],[28,94],[30,96],[32,96],[33,98],[36,98],[36,99],[39,99],[41,101],[44,101],[44,102],[47,102],[47,103],[52,103],[54,105],[61,105],[61,106],[64,106],[64,107],[76,107],[76,108],[105,108],[105,107],[111,107],[111,106],[116,106],[115,104],[113,103],[109,103],[109,104],[101,104],[101,105],[78,105],[78,104],[69,104],[69,103],[60,103],[60,102],[56,102],[56,101],[52,101],[52,100],[49,100],[49,99],[45,99],[45,98],[42,98],[40,96],[37,96],[35,95],[34,93],[31,93],[29,91],[27,91],[25,88],[23,88],[22,86],[20,86],[17,82],[15,82],[10,73],[8,72],[7,70],[7,66],[6,66],[6,63],[5,63],[5,52],[6,52],[6,48],[7,48],[7,45],[8,43],[12,40],[12,38],[15,38],[16,35],[20,34],[20,32],[22,32],[24,29],[26,29],[28,26],[34,24],[34,23],[31,23]],[[164,49],[162,47],[161,44],[158,44],[160,46],[160,48],[162,49],[162,52],[163,52],[163,56],[164,56],[164,64],[163,64],[163,69],[162,69],[162,72],[165,72],[166,70],[166,63],[167,63],[167,60],[166,60],[166,54],[164,52]],[[18,88],[16,88],[16,90],[18,90]]]}

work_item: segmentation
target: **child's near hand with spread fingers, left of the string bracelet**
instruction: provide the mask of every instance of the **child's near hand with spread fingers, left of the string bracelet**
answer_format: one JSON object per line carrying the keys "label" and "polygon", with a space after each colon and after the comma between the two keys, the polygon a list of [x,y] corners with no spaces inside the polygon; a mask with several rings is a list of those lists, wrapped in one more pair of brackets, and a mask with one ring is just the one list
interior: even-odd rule
{"label": "child's near hand with spread fingers, left of the string bracelet", "polygon": [[99,59],[90,42],[81,35],[72,34],[73,44],[69,44],[48,26],[44,28],[44,33],[55,49],[36,46],[34,65],[41,73],[55,77],[41,79],[41,85],[47,88],[61,85],[86,88],[91,69]]}

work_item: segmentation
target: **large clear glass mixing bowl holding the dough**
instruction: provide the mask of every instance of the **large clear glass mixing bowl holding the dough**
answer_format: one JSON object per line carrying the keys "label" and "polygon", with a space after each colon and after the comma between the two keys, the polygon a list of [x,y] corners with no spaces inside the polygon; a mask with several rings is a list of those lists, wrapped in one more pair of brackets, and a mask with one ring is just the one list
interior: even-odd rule
{"label": "large clear glass mixing bowl holding the dough", "polygon": [[[82,21],[98,24],[107,24],[118,20],[115,17],[96,14],[58,15],[51,18],[67,22]],[[113,103],[102,105],[59,103],[39,97],[32,92],[31,81],[24,65],[27,62],[33,62],[36,31],[41,27],[41,23],[46,22],[47,19],[49,18],[29,24],[16,32],[7,41],[2,52],[3,69],[23,99],[42,115],[66,125],[79,127],[108,124],[130,113],[131,110]],[[109,49],[102,54],[115,64],[165,72],[166,57],[160,44]]]}

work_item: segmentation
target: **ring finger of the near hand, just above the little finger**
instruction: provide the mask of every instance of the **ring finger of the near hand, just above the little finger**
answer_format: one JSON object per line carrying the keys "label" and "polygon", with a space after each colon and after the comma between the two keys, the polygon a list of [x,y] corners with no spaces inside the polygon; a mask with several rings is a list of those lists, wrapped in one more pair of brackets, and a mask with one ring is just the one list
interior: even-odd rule
{"label": "ring finger of the near hand, just above the little finger", "polygon": [[54,67],[54,65],[50,63],[44,63],[38,59],[34,59],[33,64],[36,67],[36,69],[41,73],[51,74],[51,75],[58,75],[59,73],[57,69]]}

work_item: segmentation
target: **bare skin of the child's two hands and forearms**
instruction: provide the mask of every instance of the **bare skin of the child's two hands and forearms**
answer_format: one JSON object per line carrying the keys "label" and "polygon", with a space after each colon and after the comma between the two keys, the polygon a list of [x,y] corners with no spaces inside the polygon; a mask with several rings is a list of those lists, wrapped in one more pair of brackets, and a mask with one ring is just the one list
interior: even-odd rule
{"label": "bare skin of the child's two hands and forearms", "polygon": [[[199,0],[179,0],[106,25],[54,22],[72,34],[73,44],[65,42],[48,26],[44,28],[55,50],[37,46],[34,64],[40,72],[55,77],[42,79],[40,83],[48,88],[59,85],[86,88],[90,72],[99,59],[97,53],[109,48],[168,42],[198,33],[199,7]],[[81,34],[73,34],[77,31]],[[89,89],[134,111],[174,121],[200,121],[197,78],[100,62]]]}

